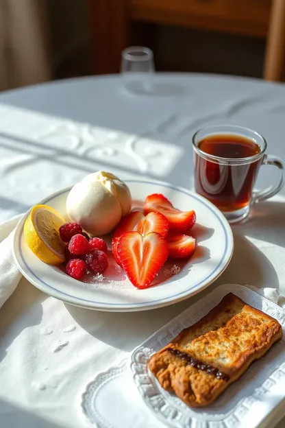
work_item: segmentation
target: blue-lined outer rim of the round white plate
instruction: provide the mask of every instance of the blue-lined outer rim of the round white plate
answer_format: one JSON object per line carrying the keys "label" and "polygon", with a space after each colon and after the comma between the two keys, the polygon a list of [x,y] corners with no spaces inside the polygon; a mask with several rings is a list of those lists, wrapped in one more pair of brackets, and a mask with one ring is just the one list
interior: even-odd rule
{"label": "blue-lined outer rim of the round white plate", "polygon": [[[223,230],[224,233],[224,239],[225,239],[225,247],[223,250],[223,255],[221,256],[221,260],[219,261],[219,264],[216,265],[214,267],[214,269],[212,270],[212,272],[210,272],[210,274],[207,274],[204,278],[202,278],[199,283],[195,283],[195,285],[191,285],[190,289],[191,289],[191,296],[193,294],[196,294],[195,292],[197,292],[197,288],[199,288],[199,286],[202,283],[205,283],[208,279],[212,278],[214,276],[214,274],[219,271],[219,269],[221,268],[221,265],[225,264],[223,270],[221,270],[221,272],[219,272],[220,276],[223,271],[225,270],[225,268],[227,268],[228,263],[230,263],[230,259],[232,258],[232,252],[234,249],[234,241],[233,241],[233,237],[232,237],[232,230],[230,228],[230,225],[227,223],[227,221],[225,219],[225,217],[223,217],[223,214],[221,213],[221,211],[219,211],[218,209],[216,209],[216,207],[211,204],[208,200],[206,200],[205,198],[201,197],[200,195],[195,195],[195,193],[192,193],[190,191],[187,191],[186,189],[182,189],[179,187],[175,187],[172,185],[169,185],[167,183],[164,182],[151,182],[151,181],[147,181],[147,180],[124,180],[127,184],[131,184],[131,183],[137,183],[137,184],[145,184],[145,185],[158,185],[160,187],[166,187],[167,189],[172,189],[174,191],[180,192],[180,193],[184,193],[185,195],[190,196],[190,198],[193,198],[197,201],[199,201],[201,204],[203,204],[204,206],[206,206],[207,209],[210,209],[210,211],[212,212],[212,214],[216,217],[216,219],[219,221],[219,224],[221,225],[221,228]],[[54,200],[55,198],[58,198],[58,196],[63,195],[64,193],[66,193],[67,191],[69,191],[71,189],[71,187],[68,187],[66,189],[63,189],[61,191],[55,192],[52,195],[49,195],[47,198],[43,199],[42,201],[39,202],[39,204],[48,204],[50,203],[52,200]],[[30,210],[29,210],[30,211]],[[62,298],[62,300],[64,300],[65,302],[69,302],[73,305],[79,305],[82,307],[89,307],[89,308],[93,308],[93,309],[100,309],[99,307],[93,307],[93,305],[100,305],[103,309],[104,305],[106,305],[106,307],[122,307],[122,309],[125,308],[132,308],[132,307],[138,307],[138,302],[127,302],[127,303],[112,303],[112,302],[102,302],[102,301],[96,301],[96,300],[90,300],[90,299],[86,299],[86,298],[79,298],[73,296],[72,294],[68,294],[63,292],[62,290],[59,290],[55,287],[52,287],[52,285],[50,285],[49,283],[47,283],[46,281],[43,281],[42,278],[40,278],[40,276],[38,276],[38,274],[36,274],[36,272],[34,272],[28,265],[25,256],[23,254],[23,248],[22,248],[22,239],[23,239],[23,226],[25,223],[25,219],[27,218],[27,215],[29,215],[29,211],[27,211],[26,215],[24,215],[24,217],[21,219],[21,221],[19,222],[18,226],[16,227],[16,231],[15,231],[15,235],[14,235],[14,246],[13,246],[13,256],[14,259],[16,261],[16,264],[18,265],[18,268],[21,270],[21,272],[23,273],[23,275],[27,278],[28,281],[30,281],[31,283],[33,283],[34,285],[36,285],[36,287],[42,289],[39,285],[42,284],[45,286],[45,289],[42,289],[42,291],[47,292],[46,288],[49,289],[51,292],[49,293],[51,296],[55,296],[54,292],[56,293],[55,297],[58,298]],[[222,221],[223,219],[223,221]],[[227,225],[227,226],[225,226]],[[230,237],[230,239],[229,239]],[[230,242],[229,242],[230,241]],[[18,247],[18,255],[19,257],[16,256],[15,254],[15,245]],[[232,248],[232,252],[230,257],[228,256],[229,254],[229,249],[230,246]],[[226,258],[228,259],[226,261]],[[213,281],[216,280],[216,278],[218,277],[214,277],[214,279],[212,279],[212,281],[210,283],[212,283]],[[210,283],[207,283],[206,286],[210,285]],[[205,286],[205,287],[206,287]],[[203,288],[205,288],[203,287]],[[203,289],[202,288],[202,289]],[[58,296],[58,295],[61,296]],[[173,300],[174,302],[177,302],[179,300],[182,300],[182,297],[185,296],[185,294],[187,294],[185,291],[184,292],[179,292],[177,294],[173,294]],[[188,297],[188,294],[185,298]],[[76,302],[75,302],[76,300]],[[146,307],[146,309],[150,309],[149,307],[159,307],[160,304],[163,304],[164,302],[166,302],[167,300],[169,300],[169,298],[160,298],[160,299],[156,299],[156,300],[150,300],[148,302],[143,302],[143,307]],[[169,302],[169,304],[171,304]],[[140,310],[143,310],[143,307],[140,308]],[[132,309],[130,309],[132,310]],[[138,309],[136,309],[138,310]]]}

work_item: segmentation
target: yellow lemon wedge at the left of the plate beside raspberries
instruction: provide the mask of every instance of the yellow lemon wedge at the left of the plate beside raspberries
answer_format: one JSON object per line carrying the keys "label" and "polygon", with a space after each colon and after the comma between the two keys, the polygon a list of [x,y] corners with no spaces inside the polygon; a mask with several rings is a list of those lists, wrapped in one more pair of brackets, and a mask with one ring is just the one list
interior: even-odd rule
{"label": "yellow lemon wedge at the left of the plate beside raspberries", "polygon": [[58,229],[64,219],[47,205],[36,205],[29,213],[24,224],[24,235],[29,248],[40,260],[49,265],[58,265],[64,261],[64,242]]}

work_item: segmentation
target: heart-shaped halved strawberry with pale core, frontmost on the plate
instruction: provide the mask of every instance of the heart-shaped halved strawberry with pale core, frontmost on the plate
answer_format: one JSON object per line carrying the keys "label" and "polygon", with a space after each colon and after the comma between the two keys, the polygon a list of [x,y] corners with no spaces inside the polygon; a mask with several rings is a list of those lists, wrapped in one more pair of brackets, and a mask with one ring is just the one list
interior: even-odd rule
{"label": "heart-shaped halved strawberry with pale core, frontmost on the plate", "polygon": [[143,236],[138,232],[124,233],[117,251],[129,281],[137,288],[147,288],[169,256],[166,239],[152,232]]}

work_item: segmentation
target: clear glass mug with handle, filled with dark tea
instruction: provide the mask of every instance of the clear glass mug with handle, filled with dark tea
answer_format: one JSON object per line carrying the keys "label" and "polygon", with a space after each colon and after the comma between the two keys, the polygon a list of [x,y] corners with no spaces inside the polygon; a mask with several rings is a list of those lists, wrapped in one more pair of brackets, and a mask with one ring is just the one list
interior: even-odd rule
{"label": "clear glass mug with handle, filled with dark tea", "polygon": [[[193,136],[195,190],[216,205],[230,223],[249,214],[251,204],[271,198],[284,185],[284,163],[265,154],[267,141],[242,126],[209,126]],[[275,185],[262,191],[253,186],[261,165],[280,171]]]}

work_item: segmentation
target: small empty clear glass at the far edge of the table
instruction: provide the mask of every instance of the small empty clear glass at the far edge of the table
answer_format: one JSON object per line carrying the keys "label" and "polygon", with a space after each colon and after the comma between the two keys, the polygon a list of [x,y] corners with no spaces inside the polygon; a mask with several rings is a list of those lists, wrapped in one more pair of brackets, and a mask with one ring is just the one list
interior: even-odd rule
{"label": "small empty clear glass at the far edge of the table", "polygon": [[122,52],[121,74],[129,91],[148,93],[152,91],[154,73],[153,51],[148,47],[131,46]]}

